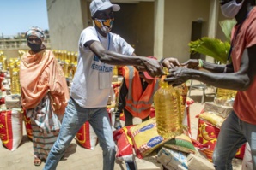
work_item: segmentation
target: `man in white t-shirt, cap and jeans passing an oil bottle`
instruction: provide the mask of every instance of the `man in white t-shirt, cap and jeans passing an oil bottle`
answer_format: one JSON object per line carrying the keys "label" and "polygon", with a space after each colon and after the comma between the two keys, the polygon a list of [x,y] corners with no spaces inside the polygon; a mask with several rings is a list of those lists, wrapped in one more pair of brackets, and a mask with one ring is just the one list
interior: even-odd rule
{"label": "man in white t-shirt, cap and jeans passing an oil bottle", "polygon": [[147,71],[150,76],[162,75],[159,62],[136,56],[125,39],[110,32],[113,11],[119,9],[119,5],[108,0],[93,0],[90,3],[95,26],[84,29],[79,38],[78,62],[70,89],[70,101],[58,139],[46,160],[45,170],[56,169],[64,150],[87,120],[93,126],[103,150],[103,169],[113,169],[116,150],[106,108],[113,65],[133,65]]}

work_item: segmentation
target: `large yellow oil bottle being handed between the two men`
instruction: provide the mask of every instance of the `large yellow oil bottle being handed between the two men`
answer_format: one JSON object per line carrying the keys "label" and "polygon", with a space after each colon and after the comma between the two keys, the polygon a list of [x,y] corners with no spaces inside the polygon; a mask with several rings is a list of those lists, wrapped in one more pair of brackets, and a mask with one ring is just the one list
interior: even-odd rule
{"label": "large yellow oil bottle being handed between the two men", "polygon": [[180,93],[163,79],[159,85],[154,95],[157,132],[163,138],[174,138],[183,132]]}

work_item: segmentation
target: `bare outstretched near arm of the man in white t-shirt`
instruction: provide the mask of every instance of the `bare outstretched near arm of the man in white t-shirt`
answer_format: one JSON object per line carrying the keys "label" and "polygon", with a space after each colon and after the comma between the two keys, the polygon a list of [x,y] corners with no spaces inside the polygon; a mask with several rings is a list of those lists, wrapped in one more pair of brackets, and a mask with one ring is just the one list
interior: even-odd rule
{"label": "bare outstretched near arm of the man in white t-shirt", "polygon": [[149,75],[153,77],[160,77],[163,74],[160,63],[154,59],[135,55],[126,56],[117,52],[109,51],[106,50],[102,46],[101,42],[98,41],[88,41],[84,45],[88,46],[95,55],[99,56],[101,62],[119,66],[131,65],[145,67]]}

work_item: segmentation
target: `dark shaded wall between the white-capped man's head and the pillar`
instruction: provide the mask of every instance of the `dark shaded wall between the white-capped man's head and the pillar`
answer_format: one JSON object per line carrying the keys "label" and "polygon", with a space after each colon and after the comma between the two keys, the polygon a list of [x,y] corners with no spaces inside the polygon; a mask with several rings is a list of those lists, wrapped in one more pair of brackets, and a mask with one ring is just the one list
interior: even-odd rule
{"label": "dark shaded wall between the white-capped man's head and the pillar", "polygon": [[154,3],[118,3],[115,13],[114,33],[125,38],[135,48],[137,56],[153,56],[154,49]]}

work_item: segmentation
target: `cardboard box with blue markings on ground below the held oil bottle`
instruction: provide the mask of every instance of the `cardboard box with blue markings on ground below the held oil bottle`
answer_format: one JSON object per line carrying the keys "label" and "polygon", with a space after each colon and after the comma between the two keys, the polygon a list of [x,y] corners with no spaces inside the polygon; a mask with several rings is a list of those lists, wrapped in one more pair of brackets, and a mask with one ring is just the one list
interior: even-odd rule
{"label": "cardboard box with blue markings on ground below the held oil bottle", "polygon": [[157,161],[162,163],[168,170],[186,170],[187,158],[186,153],[174,149],[162,147],[158,152]]}

